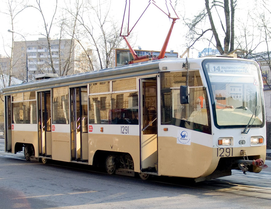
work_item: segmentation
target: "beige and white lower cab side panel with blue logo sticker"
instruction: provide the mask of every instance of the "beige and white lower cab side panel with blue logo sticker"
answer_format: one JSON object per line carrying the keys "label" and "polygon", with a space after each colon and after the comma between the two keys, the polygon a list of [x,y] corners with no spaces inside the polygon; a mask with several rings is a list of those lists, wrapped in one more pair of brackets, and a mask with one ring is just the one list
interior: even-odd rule
{"label": "beige and white lower cab side panel with blue logo sticker", "polygon": [[219,161],[213,156],[211,144],[211,135],[161,126],[158,137],[159,175],[188,178],[210,175]]}

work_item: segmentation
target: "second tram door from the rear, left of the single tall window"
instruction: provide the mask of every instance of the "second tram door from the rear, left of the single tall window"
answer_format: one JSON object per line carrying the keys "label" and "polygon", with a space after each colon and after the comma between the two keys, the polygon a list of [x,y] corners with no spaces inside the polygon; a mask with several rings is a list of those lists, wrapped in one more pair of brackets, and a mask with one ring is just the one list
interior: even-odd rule
{"label": "second tram door from the rear, left of the single tall window", "polygon": [[52,157],[51,92],[38,92],[39,156]]}

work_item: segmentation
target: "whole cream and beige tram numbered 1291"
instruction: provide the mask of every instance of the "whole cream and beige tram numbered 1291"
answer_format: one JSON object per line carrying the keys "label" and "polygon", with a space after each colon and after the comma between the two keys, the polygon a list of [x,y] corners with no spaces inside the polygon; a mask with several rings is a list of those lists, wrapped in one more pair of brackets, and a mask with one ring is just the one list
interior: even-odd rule
{"label": "whole cream and beige tram numbered 1291", "polygon": [[193,178],[265,168],[256,62],[167,58],[3,89],[5,149],[109,174]]}

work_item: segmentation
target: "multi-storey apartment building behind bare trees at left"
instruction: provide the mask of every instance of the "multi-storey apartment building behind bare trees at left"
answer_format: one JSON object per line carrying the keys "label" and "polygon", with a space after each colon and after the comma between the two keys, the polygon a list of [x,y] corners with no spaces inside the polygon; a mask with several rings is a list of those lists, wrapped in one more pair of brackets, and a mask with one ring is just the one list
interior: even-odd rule
{"label": "multi-storey apartment building behind bare trees at left", "polygon": [[[79,42],[71,39],[50,39],[53,68],[59,76],[80,73],[80,57],[83,51]],[[71,59],[69,54],[71,50]],[[15,77],[26,78],[26,51],[28,56],[29,81],[36,74],[53,73],[47,38],[14,42],[13,74]],[[69,62],[70,60],[70,62]]]}

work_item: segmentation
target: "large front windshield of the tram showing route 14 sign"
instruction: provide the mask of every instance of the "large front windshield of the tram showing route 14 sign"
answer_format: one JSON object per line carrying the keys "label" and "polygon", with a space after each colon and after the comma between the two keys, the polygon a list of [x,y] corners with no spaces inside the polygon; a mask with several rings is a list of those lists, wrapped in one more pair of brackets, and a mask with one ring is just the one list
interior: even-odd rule
{"label": "large front windshield of the tram showing route 14 sign", "polygon": [[263,95],[258,66],[251,61],[204,60],[217,127],[262,127]]}

